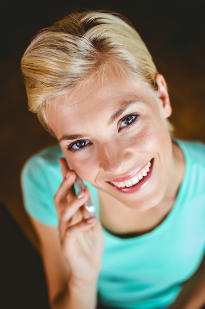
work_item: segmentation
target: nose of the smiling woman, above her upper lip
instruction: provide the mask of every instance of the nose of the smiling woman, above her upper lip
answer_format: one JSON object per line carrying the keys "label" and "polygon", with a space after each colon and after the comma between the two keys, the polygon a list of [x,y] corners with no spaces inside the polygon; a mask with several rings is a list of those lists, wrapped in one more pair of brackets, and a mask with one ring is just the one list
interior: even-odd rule
{"label": "nose of the smiling woman, above her upper lip", "polygon": [[125,171],[125,166],[131,158],[131,153],[122,145],[104,145],[99,150],[99,165],[106,173],[119,175]]}

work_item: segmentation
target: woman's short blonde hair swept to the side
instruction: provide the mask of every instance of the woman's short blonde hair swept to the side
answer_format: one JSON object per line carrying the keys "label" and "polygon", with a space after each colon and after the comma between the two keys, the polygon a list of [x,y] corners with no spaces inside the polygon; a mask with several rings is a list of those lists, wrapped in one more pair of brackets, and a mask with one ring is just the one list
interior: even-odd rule
{"label": "woman's short blonde hair swept to the side", "polygon": [[131,22],[112,11],[74,11],[31,40],[22,60],[29,110],[42,125],[46,108],[89,78],[116,70],[157,89],[157,69]]}

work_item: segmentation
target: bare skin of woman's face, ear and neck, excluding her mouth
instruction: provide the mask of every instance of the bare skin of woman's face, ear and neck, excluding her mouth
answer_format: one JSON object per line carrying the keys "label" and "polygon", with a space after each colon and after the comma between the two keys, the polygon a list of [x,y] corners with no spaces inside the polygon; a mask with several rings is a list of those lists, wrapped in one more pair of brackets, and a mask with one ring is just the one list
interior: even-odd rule
{"label": "bare skin of woman's face, ear and neck, excluding her mouth", "polygon": [[[100,87],[93,84],[61,99],[58,109],[47,114],[66,159],[82,179],[99,189],[101,219],[113,232],[133,232],[136,220],[142,231],[153,228],[172,207],[182,178],[182,154],[172,145],[165,123],[172,112],[166,83],[161,75],[157,81],[155,91],[142,81],[108,77]],[[122,106],[125,110],[110,123]],[[126,126],[127,115],[135,119]],[[82,141],[87,145],[77,147]],[[137,191],[119,192],[110,185],[130,177],[150,160],[151,177],[143,186],[138,184]],[[133,218],[130,231],[122,222],[125,214]],[[149,218],[147,226],[141,223],[144,216]]]}

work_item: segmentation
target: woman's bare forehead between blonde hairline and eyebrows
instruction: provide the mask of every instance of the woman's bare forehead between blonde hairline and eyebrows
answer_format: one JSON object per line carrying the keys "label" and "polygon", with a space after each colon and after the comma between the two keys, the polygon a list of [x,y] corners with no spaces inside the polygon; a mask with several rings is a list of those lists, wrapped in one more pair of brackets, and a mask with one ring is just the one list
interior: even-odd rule
{"label": "woman's bare forehead between blonde hairline and eyebrows", "polygon": [[[76,126],[98,125],[102,117],[109,118],[120,107],[132,102],[147,101],[152,88],[146,82],[127,77],[108,76],[101,82],[83,82],[71,94],[60,97],[46,111],[48,124],[58,137]],[[120,112],[120,111],[119,111]]]}

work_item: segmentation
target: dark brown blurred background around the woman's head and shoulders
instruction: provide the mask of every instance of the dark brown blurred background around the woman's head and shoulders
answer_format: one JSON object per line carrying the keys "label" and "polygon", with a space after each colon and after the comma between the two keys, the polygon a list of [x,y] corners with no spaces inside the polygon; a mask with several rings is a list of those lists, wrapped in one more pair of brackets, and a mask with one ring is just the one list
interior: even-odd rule
{"label": "dark brown blurred background around the woman's head and shoulders", "polygon": [[[175,125],[176,137],[205,142],[203,4],[203,0],[1,1],[0,237],[4,252],[1,309],[47,308],[38,240],[23,208],[20,172],[31,154],[56,141],[27,109],[20,60],[29,40],[39,29],[77,7],[113,9],[123,13],[145,40],[158,71],[167,80],[173,106],[170,119]],[[17,269],[19,272],[15,272]],[[19,276],[23,278],[21,284]],[[32,289],[35,292],[30,294]],[[18,297],[14,297],[11,305],[14,290]],[[28,302],[33,297],[37,299],[37,303],[31,302],[33,307],[26,300],[22,303],[25,291]]]}

